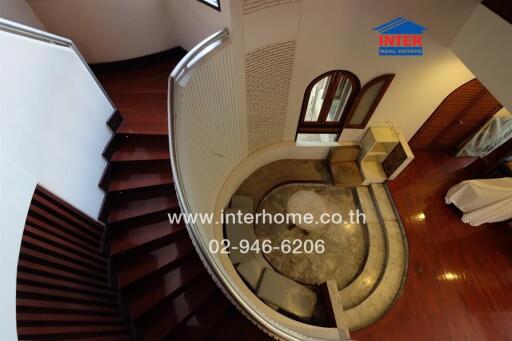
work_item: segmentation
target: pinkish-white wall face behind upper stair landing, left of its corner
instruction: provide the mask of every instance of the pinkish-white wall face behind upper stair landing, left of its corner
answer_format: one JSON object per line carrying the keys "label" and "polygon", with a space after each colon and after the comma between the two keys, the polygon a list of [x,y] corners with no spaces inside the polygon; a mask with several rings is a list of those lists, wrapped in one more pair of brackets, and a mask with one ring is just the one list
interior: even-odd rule
{"label": "pinkish-white wall face behind upper stair landing, left of its corner", "polygon": [[72,39],[89,63],[164,51],[177,45],[163,0],[29,0],[49,32]]}

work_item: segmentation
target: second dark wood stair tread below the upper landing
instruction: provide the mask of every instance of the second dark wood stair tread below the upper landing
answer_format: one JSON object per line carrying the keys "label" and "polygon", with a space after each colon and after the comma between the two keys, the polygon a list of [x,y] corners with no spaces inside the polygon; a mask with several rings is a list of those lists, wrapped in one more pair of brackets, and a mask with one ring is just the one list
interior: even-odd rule
{"label": "second dark wood stair tread below the upper landing", "polygon": [[126,191],[136,188],[171,185],[171,164],[167,160],[156,164],[133,164],[116,167],[112,171],[109,192]]}

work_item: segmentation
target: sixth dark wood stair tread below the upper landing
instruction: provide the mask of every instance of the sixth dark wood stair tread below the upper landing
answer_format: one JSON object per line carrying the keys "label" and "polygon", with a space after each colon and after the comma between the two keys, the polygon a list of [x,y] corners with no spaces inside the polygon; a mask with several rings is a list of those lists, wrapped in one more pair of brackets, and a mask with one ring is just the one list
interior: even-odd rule
{"label": "sixth dark wood stair tread below the upper landing", "polygon": [[136,319],[179,289],[186,287],[206,269],[195,255],[162,275],[130,287],[126,294],[130,316]]}

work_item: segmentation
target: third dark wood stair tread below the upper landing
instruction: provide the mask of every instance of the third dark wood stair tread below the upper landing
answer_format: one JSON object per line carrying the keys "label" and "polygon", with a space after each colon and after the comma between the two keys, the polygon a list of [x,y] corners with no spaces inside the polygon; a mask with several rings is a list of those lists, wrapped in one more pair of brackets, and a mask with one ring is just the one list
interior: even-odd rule
{"label": "third dark wood stair tread below the upper landing", "polygon": [[109,223],[116,223],[154,212],[170,211],[179,207],[176,194],[170,188],[123,193],[113,198],[112,201],[108,213]]}

